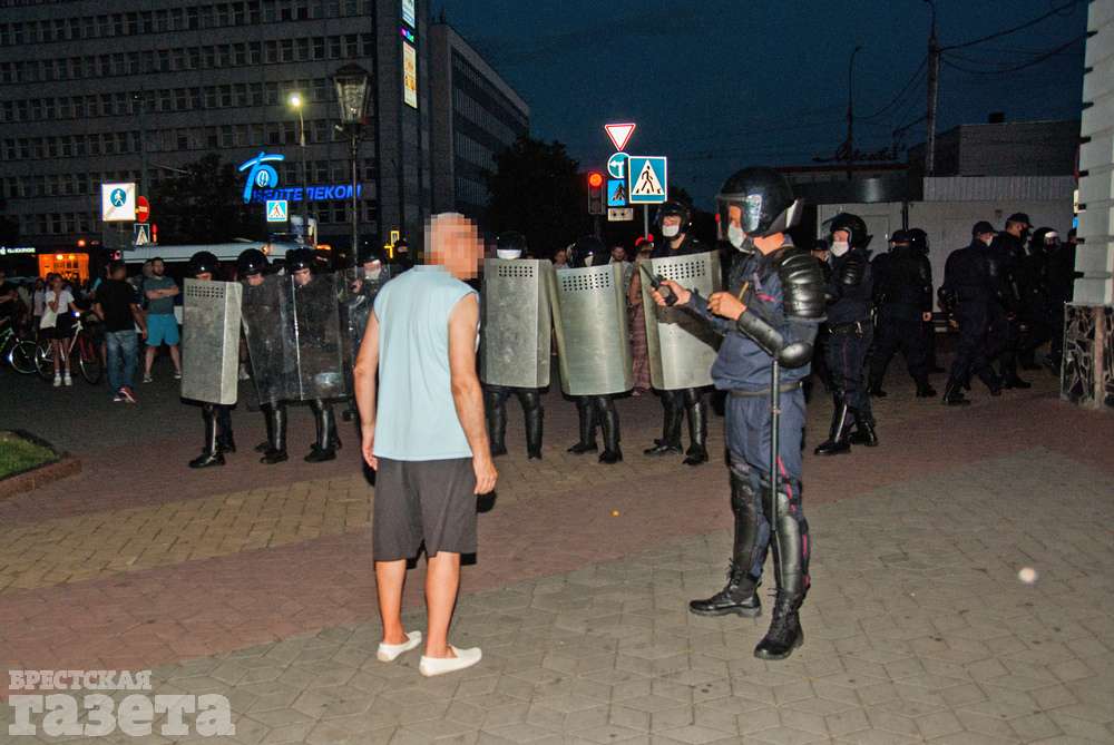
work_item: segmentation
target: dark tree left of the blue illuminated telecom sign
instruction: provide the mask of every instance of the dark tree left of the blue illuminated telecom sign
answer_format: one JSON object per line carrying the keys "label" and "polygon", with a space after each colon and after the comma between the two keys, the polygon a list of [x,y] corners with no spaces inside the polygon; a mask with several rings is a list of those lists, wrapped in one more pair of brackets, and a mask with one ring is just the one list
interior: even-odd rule
{"label": "dark tree left of the blue illuminated telecom sign", "polygon": [[183,168],[188,174],[164,179],[152,195],[153,222],[166,244],[263,239],[263,208],[243,202],[243,176],[221,156],[208,154]]}

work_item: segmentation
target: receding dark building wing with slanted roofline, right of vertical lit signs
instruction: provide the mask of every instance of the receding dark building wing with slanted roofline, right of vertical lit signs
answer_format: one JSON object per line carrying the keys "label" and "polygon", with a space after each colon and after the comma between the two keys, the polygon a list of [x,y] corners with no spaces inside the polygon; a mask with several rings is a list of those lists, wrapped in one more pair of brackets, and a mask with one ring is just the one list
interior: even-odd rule
{"label": "receding dark building wing with slanted roofline, right of vertical lit signs", "polygon": [[433,212],[481,219],[500,150],[530,130],[530,109],[443,20],[430,26]]}

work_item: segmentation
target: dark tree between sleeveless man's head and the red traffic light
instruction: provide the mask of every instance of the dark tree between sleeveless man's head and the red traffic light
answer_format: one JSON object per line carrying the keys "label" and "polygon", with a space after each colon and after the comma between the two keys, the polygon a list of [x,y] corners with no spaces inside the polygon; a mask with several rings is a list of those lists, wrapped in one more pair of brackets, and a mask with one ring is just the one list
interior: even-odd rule
{"label": "dark tree between sleeveless man's head and the red traffic light", "polygon": [[519,137],[495,160],[496,170],[488,176],[487,223],[492,229],[524,234],[539,258],[587,231],[587,186],[561,143]]}

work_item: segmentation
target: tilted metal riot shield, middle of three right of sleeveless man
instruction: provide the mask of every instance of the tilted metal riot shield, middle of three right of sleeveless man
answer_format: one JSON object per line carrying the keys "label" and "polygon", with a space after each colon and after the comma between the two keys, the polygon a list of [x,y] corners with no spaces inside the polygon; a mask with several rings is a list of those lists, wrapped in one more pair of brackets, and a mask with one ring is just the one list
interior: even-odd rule
{"label": "tilted metal riot shield, middle of three right of sleeveless man", "polygon": [[623,265],[558,269],[551,297],[561,391],[567,395],[629,391],[634,373]]}

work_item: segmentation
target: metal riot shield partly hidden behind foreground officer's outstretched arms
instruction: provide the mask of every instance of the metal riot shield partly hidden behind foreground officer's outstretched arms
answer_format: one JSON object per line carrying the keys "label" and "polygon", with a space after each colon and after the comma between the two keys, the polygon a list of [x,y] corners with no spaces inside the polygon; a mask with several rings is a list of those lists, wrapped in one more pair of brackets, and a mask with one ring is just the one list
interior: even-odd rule
{"label": "metal riot shield partly hidden behind foreground officer's outstretched arms", "polygon": [[[704,297],[719,292],[720,259],[715,253],[651,259],[651,273],[696,290]],[[649,295],[643,277],[642,302],[646,318],[646,347],[651,384],[659,391],[676,391],[712,384],[712,363],[720,337],[706,323],[678,307],[661,307]]]}

